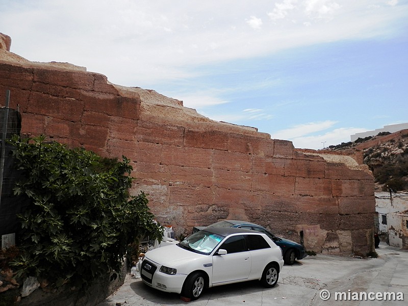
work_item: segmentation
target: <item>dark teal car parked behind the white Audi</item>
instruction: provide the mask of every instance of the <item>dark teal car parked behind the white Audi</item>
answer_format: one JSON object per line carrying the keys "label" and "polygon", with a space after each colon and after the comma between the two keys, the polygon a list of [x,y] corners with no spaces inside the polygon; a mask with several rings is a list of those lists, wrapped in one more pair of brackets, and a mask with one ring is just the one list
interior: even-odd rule
{"label": "dark teal car parked behind the white Audi", "polygon": [[[202,228],[203,226],[195,226],[193,228],[193,233],[197,232]],[[296,261],[296,259],[301,260],[304,257],[307,256],[306,251],[304,247],[292,240],[285,239],[282,237],[277,237],[273,235],[271,232],[266,230],[265,227],[251,223],[251,222],[245,222],[245,221],[238,221],[238,220],[224,220],[220,221],[211,225],[208,225],[207,227],[238,227],[238,228],[246,228],[247,230],[253,230],[253,231],[258,231],[261,233],[266,234],[269,236],[274,243],[276,243],[279,247],[282,248],[282,251],[284,253],[284,261],[285,264],[287,265],[293,265]]]}

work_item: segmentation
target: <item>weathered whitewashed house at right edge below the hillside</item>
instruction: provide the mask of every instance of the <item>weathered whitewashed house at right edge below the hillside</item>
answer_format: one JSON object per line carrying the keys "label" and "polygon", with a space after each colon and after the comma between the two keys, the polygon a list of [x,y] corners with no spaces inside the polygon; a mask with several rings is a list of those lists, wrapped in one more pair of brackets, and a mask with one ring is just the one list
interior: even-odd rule
{"label": "weathered whitewashed house at right edge below the hillside", "polygon": [[390,245],[408,249],[408,192],[376,192],[379,233],[388,233]]}

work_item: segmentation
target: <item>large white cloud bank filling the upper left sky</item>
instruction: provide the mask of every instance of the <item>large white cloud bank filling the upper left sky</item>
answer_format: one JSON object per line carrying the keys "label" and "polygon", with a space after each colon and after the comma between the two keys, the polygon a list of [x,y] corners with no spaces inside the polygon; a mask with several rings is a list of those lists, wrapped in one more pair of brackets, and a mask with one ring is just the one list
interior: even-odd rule
{"label": "large white cloud bank filling the upper left sky", "polygon": [[[181,0],[9,2],[1,7],[0,29],[11,36],[11,51],[29,60],[70,62],[104,73],[116,84],[148,86],[160,79],[191,77],[186,66],[384,35],[386,25],[406,16],[404,6],[370,11],[370,0],[339,3],[341,7],[333,0],[283,0],[274,7],[267,0],[239,5],[231,0],[196,5]],[[263,21],[259,16],[268,10],[271,18],[285,18]]]}

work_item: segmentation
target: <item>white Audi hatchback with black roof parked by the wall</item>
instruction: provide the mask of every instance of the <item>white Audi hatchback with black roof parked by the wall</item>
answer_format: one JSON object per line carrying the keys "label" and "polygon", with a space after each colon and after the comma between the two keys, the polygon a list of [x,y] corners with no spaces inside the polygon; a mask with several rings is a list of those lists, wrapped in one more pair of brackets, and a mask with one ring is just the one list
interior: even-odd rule
{"label": "white Audi hatchback with black roof parked by the wall", "polygon": [[283,264],[281,248],[263,233],[209,227],[148,251],[139,271],[148,286],[194,300],[209,287],[253,279],[273,287]]}

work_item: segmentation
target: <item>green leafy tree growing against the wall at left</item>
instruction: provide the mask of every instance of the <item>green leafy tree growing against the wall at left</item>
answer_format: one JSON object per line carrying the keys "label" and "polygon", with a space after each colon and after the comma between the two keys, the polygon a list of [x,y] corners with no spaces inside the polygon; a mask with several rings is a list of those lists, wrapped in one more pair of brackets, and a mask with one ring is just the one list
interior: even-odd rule
{"label": "green leafy tree growing against the wall at left", "polygon": [[162,226],[149,212],[146,195],[129,195],[129,160],[103,159],[44,139],[10,141],[15,166],[24,174],[14,193],[30,199],[19,215],[20,256],[11,263],[18,275],[41,276],[57,287],[84,285],[119,271],[127,246],[138,238],[161,239]]}

